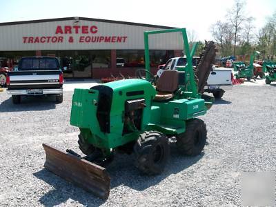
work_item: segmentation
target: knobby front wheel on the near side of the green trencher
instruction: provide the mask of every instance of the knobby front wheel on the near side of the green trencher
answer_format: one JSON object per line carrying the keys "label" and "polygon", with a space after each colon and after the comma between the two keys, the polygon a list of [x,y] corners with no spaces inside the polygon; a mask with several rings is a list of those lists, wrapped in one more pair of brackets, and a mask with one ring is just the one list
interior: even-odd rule
{"label": "knobby front wheel on the near side of the green trencher", "polygon": [[146,175],[163,172],[170,149],[168,138],[160,132],[144,132],[134,146],[137,168]]}

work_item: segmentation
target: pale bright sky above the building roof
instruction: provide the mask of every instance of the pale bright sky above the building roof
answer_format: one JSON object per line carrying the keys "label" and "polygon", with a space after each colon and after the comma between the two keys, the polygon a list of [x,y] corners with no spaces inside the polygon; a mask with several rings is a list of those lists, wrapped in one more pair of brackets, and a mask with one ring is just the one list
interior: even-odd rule
{"label": "pale bright sky above the building roof", "polygon": [[[0,0],[0,22],[88,17],[187,28],[210,40],[210,26],[225,21],[235,0]],[[276,12],[276,0],[247,0],[256,30]]]}

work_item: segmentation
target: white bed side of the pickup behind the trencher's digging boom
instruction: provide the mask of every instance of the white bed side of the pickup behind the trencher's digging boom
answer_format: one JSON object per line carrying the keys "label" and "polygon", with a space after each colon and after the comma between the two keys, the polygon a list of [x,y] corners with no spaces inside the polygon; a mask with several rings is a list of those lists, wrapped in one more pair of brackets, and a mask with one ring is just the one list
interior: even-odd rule
{"label": "white bed side of the pickup behind the trencher's digging boom", "polygon": [[215,68],[207,79],[207,86],[225,86],[232,85],[231,68]]}

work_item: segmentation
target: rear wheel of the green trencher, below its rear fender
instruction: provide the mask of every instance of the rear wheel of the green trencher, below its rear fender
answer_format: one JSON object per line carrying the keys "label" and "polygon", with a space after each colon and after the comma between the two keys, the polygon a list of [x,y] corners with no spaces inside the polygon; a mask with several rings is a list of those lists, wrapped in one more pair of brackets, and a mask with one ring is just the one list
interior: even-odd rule
{"label": "rear wheel of the green trencher, below its rear fender", "polygon": [[186,122],[186,132],[177,135],[177,149],[182,155],[199,155],[207,139],[206,124],[201,119]]}

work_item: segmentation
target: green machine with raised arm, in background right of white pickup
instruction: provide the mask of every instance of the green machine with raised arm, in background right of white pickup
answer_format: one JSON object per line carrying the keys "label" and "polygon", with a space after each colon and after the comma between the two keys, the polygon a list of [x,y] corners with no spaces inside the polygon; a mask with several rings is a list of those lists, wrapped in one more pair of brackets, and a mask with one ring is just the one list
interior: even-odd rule
{"label": "green machine with raised arm, in background right of white pickup", "polygon": [[233,63],[234,71],[237,71],[235,75],[237,79],[246,78],[247,81],[250,81],[254,78],[254,59],[256,55],[259,55],[258,51],[254,51],[252,55],[250,55],[250,62],[248,66],[245,66],[244,62]]}

